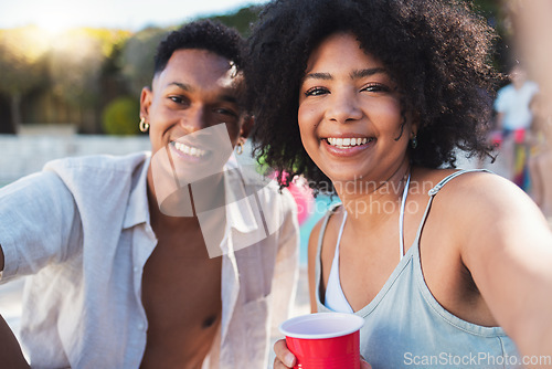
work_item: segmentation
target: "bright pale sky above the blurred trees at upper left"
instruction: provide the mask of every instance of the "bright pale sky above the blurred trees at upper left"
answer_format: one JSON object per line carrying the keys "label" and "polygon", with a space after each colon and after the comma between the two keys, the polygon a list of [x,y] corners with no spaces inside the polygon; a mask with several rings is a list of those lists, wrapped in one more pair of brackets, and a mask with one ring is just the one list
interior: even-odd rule
{"label": "bright pale sky above the blurred trees at upper left", "polygon": [[0,0],[0,29],[39,25],[50,31],[72,27],[139,31],[148,25],[223,14],[267,0]]}

